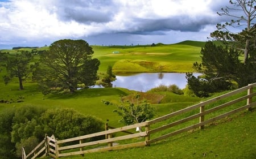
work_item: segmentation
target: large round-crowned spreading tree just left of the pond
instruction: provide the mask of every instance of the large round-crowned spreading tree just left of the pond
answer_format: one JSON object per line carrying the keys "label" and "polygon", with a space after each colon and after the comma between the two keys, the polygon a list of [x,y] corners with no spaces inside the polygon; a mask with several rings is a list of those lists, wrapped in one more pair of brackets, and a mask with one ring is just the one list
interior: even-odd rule
{"label": "large round-crowned spreading tree just left of the pond", "polygon": [[92,58],[93,50],[84,40],[59,40],[49,46],[40,57],[35,72],[43,93],[69,90],[73,93],[78,85],[88,88],[98,79],[100,61]]}

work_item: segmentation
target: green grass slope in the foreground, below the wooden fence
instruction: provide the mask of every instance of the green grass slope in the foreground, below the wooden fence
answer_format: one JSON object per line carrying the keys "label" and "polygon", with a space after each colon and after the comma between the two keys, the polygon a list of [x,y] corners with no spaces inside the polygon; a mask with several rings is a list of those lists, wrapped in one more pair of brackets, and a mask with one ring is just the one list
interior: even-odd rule
{"label": "green grass slope in the foreground, below the wooden fence", "polygon": [[89,153],[84,158],[247,158],[256,157],[256,110],[246,111],[196,130],[170,137],[150,147]]}

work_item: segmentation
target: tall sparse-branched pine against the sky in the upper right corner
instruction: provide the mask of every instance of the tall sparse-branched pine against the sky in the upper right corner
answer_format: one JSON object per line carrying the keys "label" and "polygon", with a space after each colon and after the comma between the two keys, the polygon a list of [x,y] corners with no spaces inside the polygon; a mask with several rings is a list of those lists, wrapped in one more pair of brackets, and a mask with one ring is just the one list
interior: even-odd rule
{"label": "tall sparse-branched pine against the sky in the upper right corner", "polygon": [[[236,49],[242,50],[244,54],[243,62],[246,63],[249,55],[253,50],[250,50],[252,42],[255,44],[255,18],[256,18],[256,2],[255,0],[236,0],[229,1],[232,8],[226,6],[221,8],[222,12],[217,12],[218,15],[229,16],[232,18],[230,22],[217,24],[217,31],[210,33],[210,36],[216,40],[224,41]],[[242,15],[237,15],[239,11]],[[232,31],[234,28],[241,28],[240,32]],[[230,43],[232,41],[232,43]],[[228,43],[227,43],[228,42]],[[255,46],[254,46],[255,47]]]}

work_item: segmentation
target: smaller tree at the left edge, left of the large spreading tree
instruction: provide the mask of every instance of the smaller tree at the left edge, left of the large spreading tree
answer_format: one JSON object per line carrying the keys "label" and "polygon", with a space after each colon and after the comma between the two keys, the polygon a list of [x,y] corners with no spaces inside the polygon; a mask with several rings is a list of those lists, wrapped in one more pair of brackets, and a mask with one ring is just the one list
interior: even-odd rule
{"label": "smaller tree at the left edge, left of the large spreading tree", "polygon": [[4,59],[3,65],[6,68],[7,74],[3,76],[5,84],[8,84],[11,79],[18,78],[19,89],[23,89],[23,81],[28,78],[32,72],[30,61],[33,59],[29,51],[20,50],[15,55],[1,53],[1,58]]}

